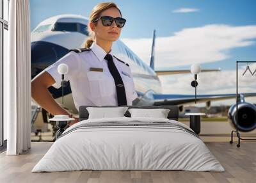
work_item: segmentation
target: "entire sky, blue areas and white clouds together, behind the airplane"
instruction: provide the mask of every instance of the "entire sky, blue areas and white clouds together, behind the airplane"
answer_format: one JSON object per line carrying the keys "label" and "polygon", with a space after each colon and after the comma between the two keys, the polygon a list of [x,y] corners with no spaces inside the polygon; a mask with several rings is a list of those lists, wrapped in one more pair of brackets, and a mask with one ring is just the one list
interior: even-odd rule
{"label": "entire sky, blue areas and white clouds together, behind the airplane", "polygon": [[[31,29],[42,20],[63,13],[89,17],[93,6],[101,2],[104,1],[31,0]],[[193,63],[200,63],[202,68],[221,68],[220,74],[200,73],[198,93],[236,93],[236,60],[256,60],[256,1],[113,2],[127,19],[120,39],[148,65],[152,31],[156,29],[156,70],[189,69]],[[252,68],[255,70],[256,64]],[[256,92],[255,77],[243,77],[241,92]],[[191,79],[192,76],[183,75],[161,77],[166,85],[163,92],[191,94]],[[184,83],[188,85],[185,88]]]}

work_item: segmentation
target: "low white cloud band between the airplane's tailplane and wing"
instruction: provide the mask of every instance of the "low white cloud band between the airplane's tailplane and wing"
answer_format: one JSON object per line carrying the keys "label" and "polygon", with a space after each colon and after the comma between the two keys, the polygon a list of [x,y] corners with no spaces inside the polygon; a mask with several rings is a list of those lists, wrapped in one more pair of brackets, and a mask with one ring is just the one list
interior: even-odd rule
{"label": "low white cloud band between the airplane's tailplane and wing", "polygon": [[[251,70],[256,69],[256,63],[250,65]],[[239,93],[256,93],[255,79],[256,75],[251,75],[246,72],[242,76],[245,67],[238,70],[238,92]],[[182,93],[195,94],[195,88],[191,86],[191,81],[194,80],[192,74],[179,74],[173,76],[159,76],[163,86],[163,93]],[[225,94],[236,93],[236,70],[225,70],[221,72],[201,72],[198,74],[197,94]],[[248,97],[245,99],[256,103],[256,97]],[[235,100],[236,101],[236,100]],[[215,104],[234,104],[233,100],[214,102]]]}

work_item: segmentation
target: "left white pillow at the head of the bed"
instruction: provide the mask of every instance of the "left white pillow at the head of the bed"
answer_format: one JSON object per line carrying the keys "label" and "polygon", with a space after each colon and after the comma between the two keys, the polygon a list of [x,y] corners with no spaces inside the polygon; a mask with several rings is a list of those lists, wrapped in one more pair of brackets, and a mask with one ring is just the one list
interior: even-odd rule
{"label": "left white pillow at the head of the bed", "polygon": [[128,107],[86,107],[88,119],[125,117]]}

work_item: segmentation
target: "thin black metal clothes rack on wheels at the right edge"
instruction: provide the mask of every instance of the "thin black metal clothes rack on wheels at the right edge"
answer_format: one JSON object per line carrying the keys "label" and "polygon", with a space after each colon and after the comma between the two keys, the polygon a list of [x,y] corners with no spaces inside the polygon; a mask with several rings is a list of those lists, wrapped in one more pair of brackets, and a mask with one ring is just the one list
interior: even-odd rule
{"label": "thin black metal clothes rack on wheels at the right edge", "polygon": [[233,143],[233,133],[235,132],[236,135],[237,135],[237,138],[238,138],[238,144],[236,145],[237,147],[240,147],[240,142],[241,140],[256,140],[256,139],[251,139],[251,138],[241,138],[241,135],[239,133],[239,130],[237,129],[237,123],[238,123],[238,63],[256,63],[256,61],[236,61],[236,123],[235,123],[235,126],[236,126],[236,131],[232,131],[231,132],[231,140],[230,140],[230,143],[232,144]]}

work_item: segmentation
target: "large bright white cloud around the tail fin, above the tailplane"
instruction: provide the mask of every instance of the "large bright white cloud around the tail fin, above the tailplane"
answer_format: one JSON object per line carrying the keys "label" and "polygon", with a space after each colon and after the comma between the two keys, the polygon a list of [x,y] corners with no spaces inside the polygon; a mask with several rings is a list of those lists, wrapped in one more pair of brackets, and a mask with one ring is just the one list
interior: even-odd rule
{"label": "large bright white cloud around the tail fin, above the tailplane", "polygon": [[[231,49],[255,44],[255,38],[256,26],[212,24],[182,29],[173,36],[156,38],[155,65],[177,67],[226,60]],[[122,41],[149,63],[152,38],[122,38]]]}

